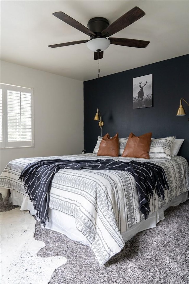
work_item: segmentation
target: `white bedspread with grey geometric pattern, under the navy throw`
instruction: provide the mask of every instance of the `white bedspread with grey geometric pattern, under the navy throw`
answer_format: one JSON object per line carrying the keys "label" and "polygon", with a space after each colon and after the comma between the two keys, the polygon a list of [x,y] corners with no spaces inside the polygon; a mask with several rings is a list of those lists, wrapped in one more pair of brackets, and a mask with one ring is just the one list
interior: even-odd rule
{"label": "white bedspread with grey geometric pattern, under the navy throw", "polygon": [[[109,157],[100,156],[100,159],[107,158]],[[2,195],[6,196],[8,189],[26,195],[24,184],[18,180],[20,173],[27,164],[42,159],[99,159],[99,156],[91,153],[13,160],[7,164],[0,177]],[[113,159],[126,162],[132,160],[123,157]],[[189,191],[188,163],[183,157],[135,160],[158,164],[167,176],[169,191],[165,191],[164,200],[154,193],[150,201],[150,214]],[[118,170],[59,170],[51,183],[49,208],[75,218],[76,228],[91,244],[100,265],[123,249],[125,242],[121,233],[144,219],[139,211],[133,176],[129,172]]]}

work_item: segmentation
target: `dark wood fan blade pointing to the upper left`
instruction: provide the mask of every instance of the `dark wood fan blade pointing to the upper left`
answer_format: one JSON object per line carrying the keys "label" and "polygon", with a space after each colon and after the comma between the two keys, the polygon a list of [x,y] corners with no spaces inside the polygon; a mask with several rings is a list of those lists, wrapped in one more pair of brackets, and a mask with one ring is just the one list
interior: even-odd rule
{"label": "dark wood fan blade pointing to the upper left", "polygon": [[53,16],[57,17],[58,19],[62,20],[66,24],[72,26],[73,28],[76,28],[77,30],[80,30],[82,33],[85,33],[86,35],[92,35],[95,36],[95,33],[93,33],[91,30],[86,28],[84,25],[80,24],[70,16],[66,15],[63,12],[55,12],[53,13]]}

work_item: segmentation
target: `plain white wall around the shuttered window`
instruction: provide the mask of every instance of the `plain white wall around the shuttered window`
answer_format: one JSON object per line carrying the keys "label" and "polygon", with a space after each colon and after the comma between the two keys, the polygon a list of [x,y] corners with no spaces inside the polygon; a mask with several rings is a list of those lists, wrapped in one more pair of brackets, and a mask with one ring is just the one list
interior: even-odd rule
{"label": "plain white wall around the shuttered window", "polygon": [[34,88],[34,148],[0,149],[0,171],[21,157],[80,154],[83,82],[1,61],[1,83]]}

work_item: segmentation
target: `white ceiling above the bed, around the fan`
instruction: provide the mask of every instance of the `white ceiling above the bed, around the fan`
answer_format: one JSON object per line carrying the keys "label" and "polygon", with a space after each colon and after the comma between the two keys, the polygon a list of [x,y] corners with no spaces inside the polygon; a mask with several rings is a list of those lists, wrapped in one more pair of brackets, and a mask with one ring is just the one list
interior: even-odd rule
{"label": "white ceiling above the bed, around the fan", "polygon": [[146,15],[112,37],[150,41],[144,48],[110,44],[100,59],[100,77],[189,53],[189,1],[3,1],[1,60],[73,78],[98,77],[98,60],[86,43],[48,45],[89,39],[52,15],[62,11],[87,26],[93,17],[110,24],[133,7]]}

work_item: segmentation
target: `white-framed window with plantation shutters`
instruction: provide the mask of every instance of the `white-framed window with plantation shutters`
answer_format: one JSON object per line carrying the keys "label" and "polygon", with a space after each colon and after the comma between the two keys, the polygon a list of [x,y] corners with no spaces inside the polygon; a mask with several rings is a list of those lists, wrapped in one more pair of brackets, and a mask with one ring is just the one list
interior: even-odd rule
{"label": "white-framed window with plantation shutters", "polygon": [[33,89],[1,84],[1,148],[34,146],[33,130]]}

